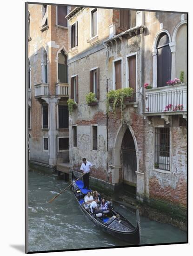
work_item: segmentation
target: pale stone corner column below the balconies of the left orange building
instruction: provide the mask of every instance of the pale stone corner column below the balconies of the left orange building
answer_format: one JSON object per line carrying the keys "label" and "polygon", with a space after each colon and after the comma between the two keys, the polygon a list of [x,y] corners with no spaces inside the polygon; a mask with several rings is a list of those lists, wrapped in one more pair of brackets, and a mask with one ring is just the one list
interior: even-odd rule
{"label": "pale stone corner column below the balconies of the left orange building", "polygon": [[49,165],[56,165],[56,98],[49,98]]}

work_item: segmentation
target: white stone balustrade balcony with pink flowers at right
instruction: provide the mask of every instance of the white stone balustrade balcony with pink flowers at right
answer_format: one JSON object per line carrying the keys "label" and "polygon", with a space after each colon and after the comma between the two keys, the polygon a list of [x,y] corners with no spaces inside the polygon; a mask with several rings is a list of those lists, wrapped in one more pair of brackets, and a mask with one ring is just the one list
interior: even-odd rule
{"label": "white stone balustrade balcony with pink flowers at right", "polygon": [[186,92],[186,83],[146,89],[146,111],[143,115],[183,115],[186,118]]}

